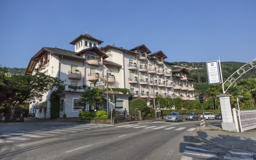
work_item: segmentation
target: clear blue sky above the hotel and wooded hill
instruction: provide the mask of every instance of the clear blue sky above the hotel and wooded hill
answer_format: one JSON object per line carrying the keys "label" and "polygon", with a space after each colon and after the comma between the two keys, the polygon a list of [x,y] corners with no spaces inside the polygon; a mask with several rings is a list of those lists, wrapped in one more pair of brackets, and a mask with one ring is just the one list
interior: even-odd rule
{"label": "clear blue sky above the hotel and wooded hill", "polygon": [[74,51],[69,43],[86,31],[99,47],[145,44],[169,62],[249,62],[255,8],[255,0],[2,0],[0,64],[26,68],[42,47]]}

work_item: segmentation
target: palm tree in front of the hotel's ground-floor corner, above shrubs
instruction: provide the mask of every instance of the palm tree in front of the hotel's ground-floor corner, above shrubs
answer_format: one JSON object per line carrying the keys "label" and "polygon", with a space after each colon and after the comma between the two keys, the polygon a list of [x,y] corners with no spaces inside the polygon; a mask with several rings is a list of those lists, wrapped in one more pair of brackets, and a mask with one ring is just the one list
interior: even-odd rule
{"label": "palm tree in front of the hotel's ground-floor corner, above shrubs", "polygon": [[104,101],[102,100],[105,97],[104,91],[99,88],[88,87],[82,93],[80,98],[80,104],[83,106],[89,105],[90,112],[92,111],[92,106],[96,106],[97,103],[100,105]]}

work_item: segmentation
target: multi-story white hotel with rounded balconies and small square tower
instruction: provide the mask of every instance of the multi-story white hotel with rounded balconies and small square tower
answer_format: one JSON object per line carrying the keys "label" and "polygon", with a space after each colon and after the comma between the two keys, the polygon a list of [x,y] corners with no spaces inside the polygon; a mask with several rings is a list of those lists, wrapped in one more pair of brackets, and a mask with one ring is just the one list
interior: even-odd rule
{"label": "multi-story white hotel with rounded balconies and small square tower", "polygon": [[[140,98],[153,106],[156,95],[182,97],[183,100],[195,100],[193,79],[182,68],[172,71],[172,63],[165,61],[167,56],[158,51],[151,51],[144,45],[130,50],[107,45],[99,48],[103,41],[85,34],[74,39],[70,44],[75,52],[59,48],[43,47],[30,60],[26,74],[32,74],[34,68],[40,68],[46,74],[66,80],[65,90],[58,93],[60,98],[60,117],[78,117],[79,98],[84,89],[72,89],[70,86],[94,86],[100,76],[108,75],[108,90],[127,88],[130,94],[115,93],[118,97],[114,109],[129,113],[128,98]],[[153,94],[155,93],[155,95]],[[110,96],[111,94],[109,94]],[[29,112],[37,118],[50,117],[50,91],[42,97],[35,97],[29,102]],[[112,106],[108,102],[108,106]],[[86,106],[85,110],[89,107]],[[97,109],[107,110],[107,97]]]}

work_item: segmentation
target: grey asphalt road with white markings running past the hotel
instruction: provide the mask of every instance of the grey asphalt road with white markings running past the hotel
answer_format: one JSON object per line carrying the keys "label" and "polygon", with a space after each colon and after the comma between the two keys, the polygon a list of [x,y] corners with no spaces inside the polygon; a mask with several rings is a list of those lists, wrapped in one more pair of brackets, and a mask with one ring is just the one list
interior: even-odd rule
{"label": "grey asphalt road with white markings running past the hotel", "polygon": [[218,159],[193,136],[199,124],[4,124],[0,159]]}

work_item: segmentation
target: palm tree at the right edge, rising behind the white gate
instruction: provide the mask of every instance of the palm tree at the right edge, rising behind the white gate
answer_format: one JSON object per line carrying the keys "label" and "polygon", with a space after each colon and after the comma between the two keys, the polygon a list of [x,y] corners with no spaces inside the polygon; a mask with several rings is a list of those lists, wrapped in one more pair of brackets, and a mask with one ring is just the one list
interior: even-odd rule
{"label": "palm tree at the right edge, rising behind the white gate", "polygon": [[252,101],[254,107],[256,107],[256,78],[250,78],[250,79],[242,79],[238,82],[239,85],[244,86],[245,89],[247,89],[252,94]]}

